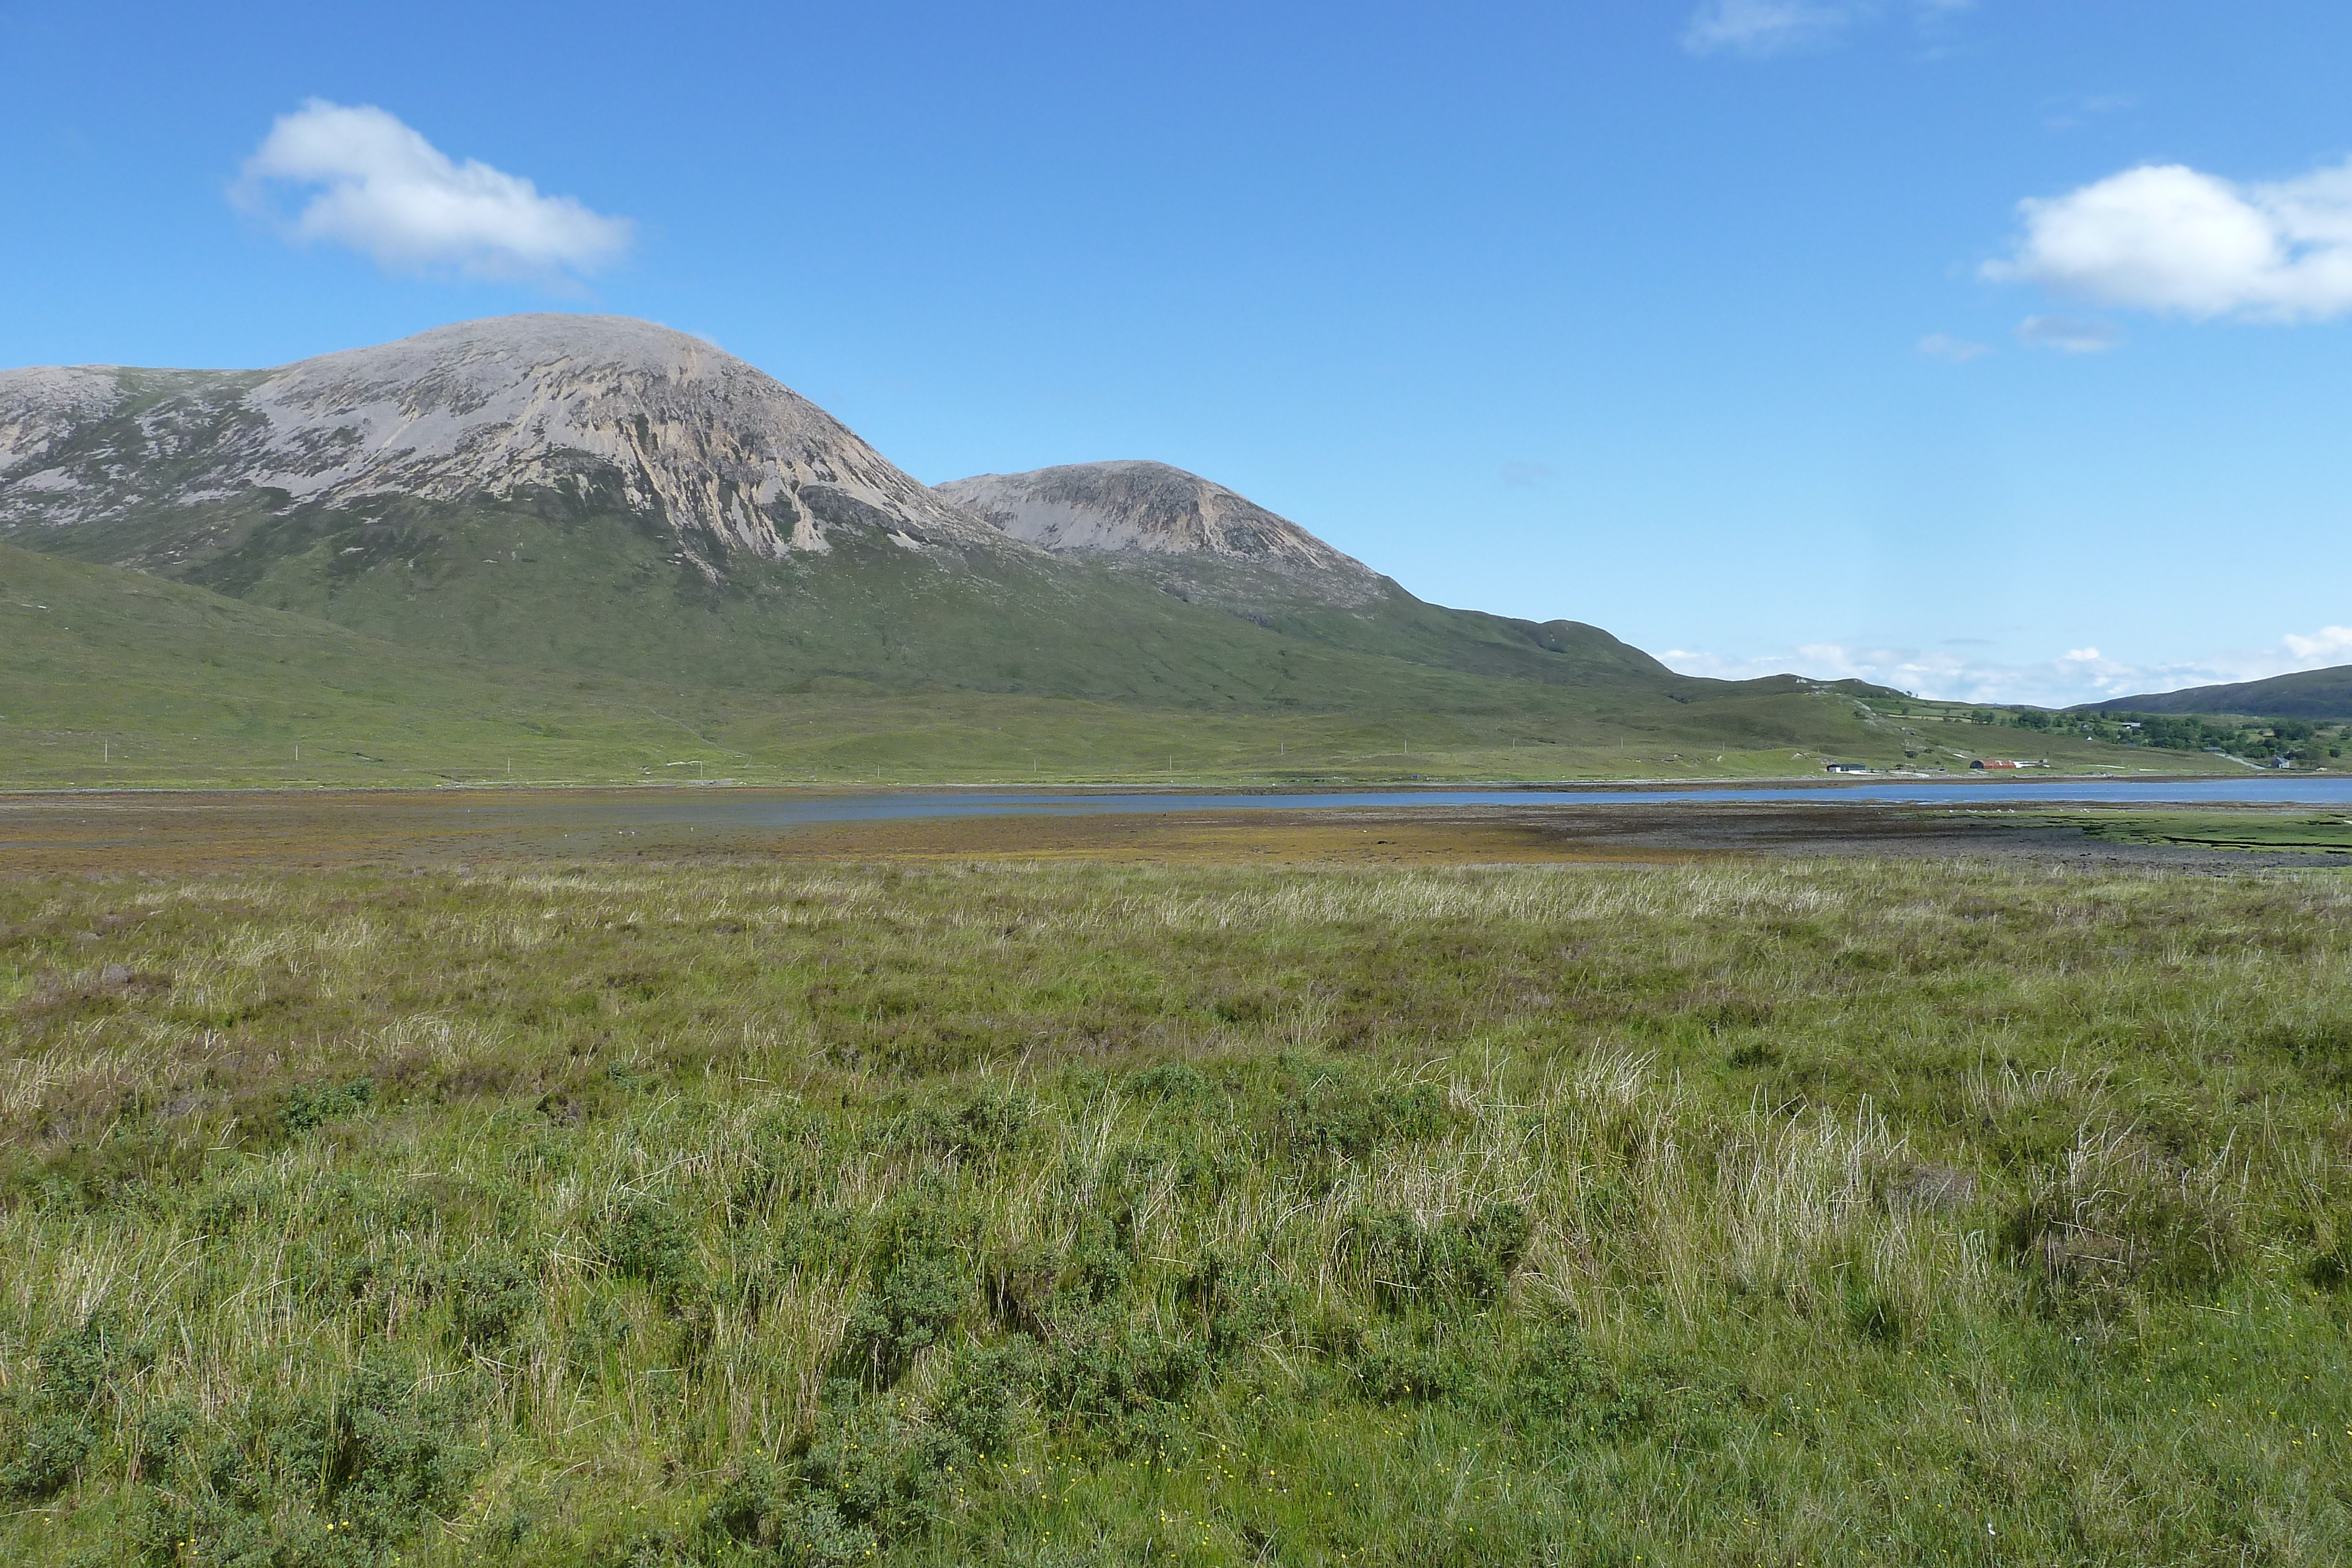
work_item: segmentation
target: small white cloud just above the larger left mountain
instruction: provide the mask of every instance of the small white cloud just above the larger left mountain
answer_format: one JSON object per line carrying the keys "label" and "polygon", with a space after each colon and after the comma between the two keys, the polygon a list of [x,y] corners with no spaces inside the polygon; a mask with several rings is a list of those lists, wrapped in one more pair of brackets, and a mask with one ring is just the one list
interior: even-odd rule
{"label": "small white cloud just above the larger left mountain", "polygon": [[325,99],[278,118],[230,200],[278,216],[294,240],[348,244],[395,273],[553,280],[616,261],[633,235],[628,219],[452,160],[381,108]]}

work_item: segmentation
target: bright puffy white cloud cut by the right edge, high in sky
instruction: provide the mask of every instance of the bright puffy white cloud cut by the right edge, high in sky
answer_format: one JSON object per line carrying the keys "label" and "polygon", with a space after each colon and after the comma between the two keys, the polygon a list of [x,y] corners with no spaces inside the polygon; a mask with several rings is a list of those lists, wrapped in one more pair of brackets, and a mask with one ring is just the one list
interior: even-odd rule
{"label": "bright puffy white cloud cut by the right edge, high in sky", "polygon": [[2143,165],[2018,212],[2025,233],[1990,280],[2199,320],[2352,310],[2352,160],[2256,186]]}

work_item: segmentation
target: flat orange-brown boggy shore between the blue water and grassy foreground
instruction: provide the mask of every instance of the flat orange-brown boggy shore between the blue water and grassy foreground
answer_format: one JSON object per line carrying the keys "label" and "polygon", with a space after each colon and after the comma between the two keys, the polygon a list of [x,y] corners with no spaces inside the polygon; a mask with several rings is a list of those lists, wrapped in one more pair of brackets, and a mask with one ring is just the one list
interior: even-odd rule
{"label": "flat orange-brown boggy shore between the blue water and grassy foreground", "polygon": [[[550,856],[675,863],[1087,860],[1120,865],[1545,865],[1719,856],[1969,856],[2070,865],[2251,870],[2338,865],[2352,825],[2310,809],[2145,811],[2004,795],[1962,806],[1585,802],[1402,809],[1004,813],[795,827],[715,820],[734,792],[247,790],[0,795],[0,875],[230,867],[449,867]],[[717,806],[699,825],[666,802]]]}

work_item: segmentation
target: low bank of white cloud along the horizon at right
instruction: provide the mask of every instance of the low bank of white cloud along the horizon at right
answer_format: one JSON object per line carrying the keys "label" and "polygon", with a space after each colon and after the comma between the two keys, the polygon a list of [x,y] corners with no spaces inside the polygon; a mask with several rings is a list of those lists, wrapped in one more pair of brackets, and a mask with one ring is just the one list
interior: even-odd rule
{"label": "low bank of white cloud along the horizon at right", "polygon": [[1809,675],[1813,679],[1865,679],[1875,686],[1915,691],[1945,703],[2034,703],[2072,708],[2119,696],[2180,691],[2267,679],[2293,670],[2352,663],[2352,628],[2328,625],[2312,635],[2288,632],[2277,646],[2213,654],[2176,663],[2136,665],[2107,658],[2096,646],[2067,649],[2053,658],[2002,663],[1973,651],[1976,637],[1955,637],[1936,649],[1806,642],[1762,658],[1675,649],[1658,658],[1682,675],[1755,679],[1759,675]]}

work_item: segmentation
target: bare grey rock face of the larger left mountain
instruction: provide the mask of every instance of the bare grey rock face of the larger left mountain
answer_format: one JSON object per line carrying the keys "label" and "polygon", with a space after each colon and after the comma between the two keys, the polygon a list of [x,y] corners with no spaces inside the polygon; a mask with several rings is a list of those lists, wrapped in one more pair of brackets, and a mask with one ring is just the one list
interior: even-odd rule
{"label": "bare grey rock face of the larger left mountain", "polygon": [[0,529],[268,496],[619,494],[706,569],[729,552],[1002,536],[710,343],[619,315],[508,315],[275,371],[0,374]]}

